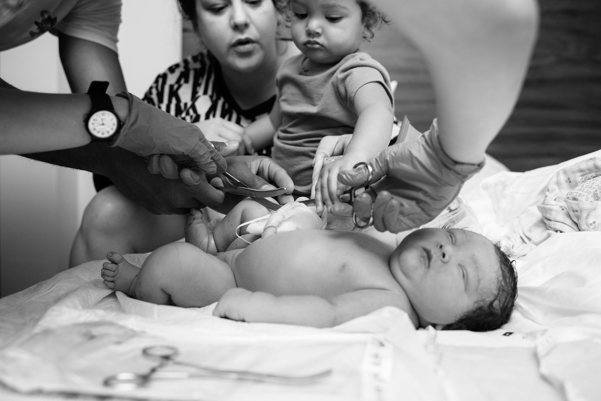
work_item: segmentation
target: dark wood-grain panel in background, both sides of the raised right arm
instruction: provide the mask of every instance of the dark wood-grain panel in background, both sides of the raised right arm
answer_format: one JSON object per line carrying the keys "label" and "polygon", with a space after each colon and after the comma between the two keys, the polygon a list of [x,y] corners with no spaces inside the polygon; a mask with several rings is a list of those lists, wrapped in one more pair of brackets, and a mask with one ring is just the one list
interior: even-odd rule
{"label": "dark wood-grain panel in background, both sides of the raised right arm", "polygon": [[[542,0],[540,34],[516,109],[488,153],[513,171],[601,148],[601,1]],[[423,60],[391,26],[365,51],[399,81],[396,114],[424,130],[434,117]]]}

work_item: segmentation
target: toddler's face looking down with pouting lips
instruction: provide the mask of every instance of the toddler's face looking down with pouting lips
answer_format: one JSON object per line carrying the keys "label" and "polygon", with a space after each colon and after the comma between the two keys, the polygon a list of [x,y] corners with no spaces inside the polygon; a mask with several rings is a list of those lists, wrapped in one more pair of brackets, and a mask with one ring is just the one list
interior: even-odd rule
{"label": "toddler's face looking down with pouting lips", "polygon": [[364,26],[356,0],[291,0],[292,39],[316,63],[338,63],[359,49]]}

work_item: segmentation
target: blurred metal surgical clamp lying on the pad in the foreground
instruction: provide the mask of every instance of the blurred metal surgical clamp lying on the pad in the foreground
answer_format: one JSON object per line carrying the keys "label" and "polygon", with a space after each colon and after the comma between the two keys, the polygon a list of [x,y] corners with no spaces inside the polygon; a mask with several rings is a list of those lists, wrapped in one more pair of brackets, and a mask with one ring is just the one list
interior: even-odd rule
{"label": "blurred metal surgical clamp lying on the pad in the foreground", "polygon": [[[271,375],[269,373],[249,372],[247,370],[224,370],[194,363],[178,361],[179,351],[176,347],[169,345],[153,345],[142,349],[142,355],[146,358],[159,360],[159,363],[148,370],[147,373],[121,372],[108,376],[104,385],[117,390],[135,390],[148,385],[155,379],[191,379],[191,378],[217,378],[231,380],[247,380],[255,382],[266,382],[287,385],[303,385],[318,382],[332,374],[332,370],[324,370],[309,376],[283,376]],[[191,371],[165,370],[168,366],[187,367]]]}

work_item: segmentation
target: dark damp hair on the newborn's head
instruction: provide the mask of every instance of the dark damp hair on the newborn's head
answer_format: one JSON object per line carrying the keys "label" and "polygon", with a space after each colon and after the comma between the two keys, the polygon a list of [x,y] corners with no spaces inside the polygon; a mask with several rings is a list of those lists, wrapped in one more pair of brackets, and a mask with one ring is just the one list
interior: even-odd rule
{"label": "dark damp hair on the newborn's head", "polygon": [[509,321],[517,297],[517,273],[514,262],[498,244],[493,245],[501,265],[496,294],[492,299],[482,299],[475,308],[463,314],[456,322],[445,325],[443,330],[490,331]]}

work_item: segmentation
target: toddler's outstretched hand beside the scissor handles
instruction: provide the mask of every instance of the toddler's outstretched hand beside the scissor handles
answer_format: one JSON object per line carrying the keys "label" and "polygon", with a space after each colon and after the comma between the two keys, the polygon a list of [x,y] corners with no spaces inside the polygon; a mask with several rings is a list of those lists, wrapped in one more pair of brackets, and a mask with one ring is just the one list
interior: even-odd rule
{"label": "toddler's outstretched hand beside the scissor handles", "polygon": [[347,154],[342,158],[333,161],[322,168],[319,179],[315,186],[315,203],[317,213],[322,207],[331,207],[332,204],[340,202],[338,195],[344,192],[345,186],[338,183],[338,172],[342,170],[352,170],[353,166],[364,161],[359,155]]}

